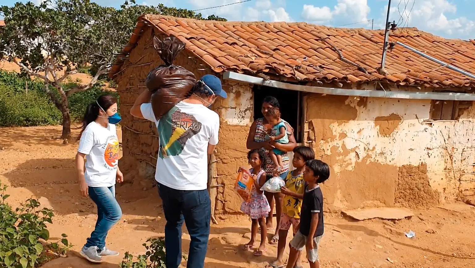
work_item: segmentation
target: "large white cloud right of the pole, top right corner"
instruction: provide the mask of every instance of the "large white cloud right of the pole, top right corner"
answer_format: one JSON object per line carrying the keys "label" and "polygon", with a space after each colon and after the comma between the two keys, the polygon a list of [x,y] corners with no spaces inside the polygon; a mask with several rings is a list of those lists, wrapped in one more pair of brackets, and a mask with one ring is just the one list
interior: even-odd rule
{"label": "large white cloud right of the pole, top right corner", "polygon": [[[445,37],[474,38],[475,21],[465,17],[448,19],[457,12],[455,4],[447,0],[408,0],[407,7],[391,7],[391,20],[399,21],[399,27],[417,27]],[[412,11],[411,11],[412,9]],[[404,11],[405,10],[405,11]]]}

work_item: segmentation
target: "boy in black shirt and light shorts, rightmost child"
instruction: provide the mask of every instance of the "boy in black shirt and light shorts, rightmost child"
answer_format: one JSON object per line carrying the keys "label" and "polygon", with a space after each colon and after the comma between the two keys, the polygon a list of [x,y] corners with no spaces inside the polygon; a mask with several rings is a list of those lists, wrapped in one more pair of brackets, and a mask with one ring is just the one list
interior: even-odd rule
{"label": "boy in black shirt and light shorts, rightmost child", "polygon": [[318,244],[323,236],[323,194],[318,183],[328,180],[330,167],[320,160],[305,163],[304,181],[307,183],[300,211],[300,226],[294,239],[290,241],[287,268],[293,268],[298,251],[307,250],[310,268],[319,268]]}

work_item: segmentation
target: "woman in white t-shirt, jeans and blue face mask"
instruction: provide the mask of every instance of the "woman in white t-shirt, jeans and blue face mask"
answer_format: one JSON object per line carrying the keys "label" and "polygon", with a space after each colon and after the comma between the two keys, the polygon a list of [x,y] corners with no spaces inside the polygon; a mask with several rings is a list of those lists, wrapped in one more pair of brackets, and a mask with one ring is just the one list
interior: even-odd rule
{"label": "woman in white t-shirt, jeans and blue face mask", "polygon": [[[115,182],[123,182],[117,166],[119,140],[115,124],[121,121],[117,99],[103,95],[86,108],[83,129],[79,134],[76,154],[79,191],[97,205],[97,222],[91,237],[81,249],[81,256],[91,262],[102,262],[102,256],[117,256],[119,252],[105,247],[107,232],[122,217],[115,200]],[[84,162],[84,159],[86,160]]]}

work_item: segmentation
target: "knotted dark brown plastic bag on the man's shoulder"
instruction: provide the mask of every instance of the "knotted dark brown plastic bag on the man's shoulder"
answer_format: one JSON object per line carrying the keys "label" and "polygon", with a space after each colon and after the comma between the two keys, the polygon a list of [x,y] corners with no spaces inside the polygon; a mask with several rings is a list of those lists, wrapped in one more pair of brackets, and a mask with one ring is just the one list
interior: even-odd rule
{"label": "knotted dark brown plastic bag on the man's shoulder", "polygon": [[150,71],[145,80],[152,94],[152,110],[158,120],[177,103],[184,100],[196,84],[195,75],[189,70],[173,65],[173,60],[185,48],[185,44],[173,35],[162,40],[153,37],[153,47],[165,63]]}

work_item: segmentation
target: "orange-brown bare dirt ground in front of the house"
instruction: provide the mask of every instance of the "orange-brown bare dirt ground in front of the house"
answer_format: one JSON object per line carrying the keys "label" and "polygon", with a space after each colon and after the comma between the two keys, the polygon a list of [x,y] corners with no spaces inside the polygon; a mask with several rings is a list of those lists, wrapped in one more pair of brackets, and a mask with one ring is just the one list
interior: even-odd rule
{"label": "orange-brown bare dirt ground in front of the house", "polygon": [[[125,178],[126,182],[117,186],[123,219],[107,237],[107,245],[122,254],[104,258],[103,264],[94,266],[76,257],[94,228],[96,209],[77,189],[74,168],[77,143],[63,144],[53,139],[60,130],[58,126],[0,129],[0,180],[10,186],[9,203],[15,206],[31,196],[38,198],[41,205],[55,210],[56,217],[49,226],[52,239],[66,233],[75,245],[69,258],[54,260],[44,267],[116,268],[125,251],[134,255],[144,253],[142,243],[146,239],[163,236],[165,220],[161,201],[156,188],[130,183]],[[474,208],[462,212],[432,208],[414,213],[416,216],[411,219],[394,222],[354,221],[327,213],[320,244],[321,267],[475,267]],[[262,257],[240,249],[248,241],[244,237],[250,231],[250,221],[245,217],[218,217],[218,220],[219,224],[211,227],[206,268],[260,268],[275,258],[276,246],[268,245]],[[403,232],[409,230],[416,233],[416,238],[404,236]],[[190,242],[186,229],[182,239],[186,253]]]}

